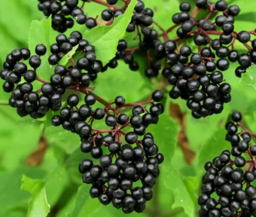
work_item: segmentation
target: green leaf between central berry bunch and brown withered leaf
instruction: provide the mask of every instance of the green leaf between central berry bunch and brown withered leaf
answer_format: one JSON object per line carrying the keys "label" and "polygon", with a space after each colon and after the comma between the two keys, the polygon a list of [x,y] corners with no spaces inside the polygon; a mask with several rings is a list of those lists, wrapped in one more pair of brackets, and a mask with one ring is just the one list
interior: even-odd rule
{"label": "green leaf between central berry bunch and brown withered leaf", "polygon": [[173,157],[177,146],[177,134],[179,130],[179,124],[164,113],[159,116],[158,124],[151,124],[147,128],[147,131],[153,134],[154,141],[159,147],[159,152],[164,153],[169,161]]}

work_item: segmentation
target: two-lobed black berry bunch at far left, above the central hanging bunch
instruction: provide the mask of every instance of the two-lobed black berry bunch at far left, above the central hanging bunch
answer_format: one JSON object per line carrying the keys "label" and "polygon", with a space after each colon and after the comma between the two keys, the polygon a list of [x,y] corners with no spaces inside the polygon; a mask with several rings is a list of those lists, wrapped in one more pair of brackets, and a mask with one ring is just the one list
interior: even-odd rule
{"label": "two-lobed black berry bunch at far left, above the central hanging bunch", "polygon": [[[95,80],[97,73],[101,71],[102,63],[96,60],[95,47],[90,45],[87,40],[82,39],[80,32],[74,31],[68,38],[60,33],[56,37],[56,42],[50,47],[53,54],[49,56],[48,60],[52,65],[57,64],[61,57],[77,44],[79,44],[77,51],[83,50],[85,54],[84,57],[77,60],[76,64],[71,57],[70,66],[56,65],[50,82],[37,76],[37,68],[41,65],[41,56],[47,52],[45,45],[36,46],[37,55],[30,56],[31,52],[26,48],[15,49],[7,55],[4,69],[0,71],[0,75],[2,79],[6,80],[3,84],[4,91],[12,92],[10,105],[16,107],[21,116],[30,114],[33,118],[40,118],[49,109],[59,110],[62,106],[62,95],[66,89],[87,92],[87,89],[90,89],[90,81]],[[24,60],[27,59],[29,65],[24,63]],[[31,69],[28,68],[29,66]],[[33,89],[33,82],[36,80],[43,83],[38,90]],[[68,105],[75,106],[78,99],[70,97]]]}

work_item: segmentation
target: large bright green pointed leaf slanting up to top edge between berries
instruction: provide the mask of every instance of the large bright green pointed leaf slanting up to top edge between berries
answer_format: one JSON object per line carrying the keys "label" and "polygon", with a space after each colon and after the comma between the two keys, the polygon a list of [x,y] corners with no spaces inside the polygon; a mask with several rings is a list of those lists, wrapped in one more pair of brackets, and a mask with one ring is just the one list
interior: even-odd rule
{"label": "large bright green pointed leaf slanting up to top edge between berries", "polygon": [[115,56],[118,40],[122,38],[131,21],[136,3],[137,0],[132,0],[124,14],[115,18],[112,25],[98,25],[90,31],[85,31],[83,37],[96,47],[95,54],[103,65]]}

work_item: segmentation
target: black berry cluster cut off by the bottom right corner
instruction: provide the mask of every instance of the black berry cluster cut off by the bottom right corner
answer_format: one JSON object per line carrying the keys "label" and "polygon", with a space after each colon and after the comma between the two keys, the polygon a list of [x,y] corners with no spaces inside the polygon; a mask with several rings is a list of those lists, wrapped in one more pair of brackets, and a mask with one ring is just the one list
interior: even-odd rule
{"label": "black berry cluster cut off by the bottom right corner", "polygon": [[256,177],[256,145],[249,145],[251,136],[256,135],[241,125],[241,119],[241,113],[235,111],[234,122],[225,126],[231,151],[223,151],[204,165],[206,173],[198,198],[200,217],[256,216],[256,189],[252,184]]}

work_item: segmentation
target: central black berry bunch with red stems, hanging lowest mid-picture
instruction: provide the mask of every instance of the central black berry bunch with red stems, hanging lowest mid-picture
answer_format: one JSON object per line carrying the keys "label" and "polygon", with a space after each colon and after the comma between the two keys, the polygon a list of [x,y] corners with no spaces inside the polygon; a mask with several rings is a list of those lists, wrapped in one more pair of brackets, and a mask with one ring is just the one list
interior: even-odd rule
{"label": "central black berry bunch with red stems, hanging lowest mid-picture", "polygon": [[[63,107],[60,115],[52,118],[54,126],[62,125],[64,129],[79,134],[81,151],[98,159],[98,163],[85,159],[79,165],[83,182],[92,184],[91,197],[98,198],[103,205],[112,202],[115,208],[122,208],[125,213],[145,209],[146,201],[153,196],[151,188],[160,174],[159,164],[164,160],[153,135],[146,133],[146,128],[152,123],[156,124],[158,116],[164,111],[159,103],[163,99],[163,92],[154,91],[152,99],[152,102],[142,104],[125,104],[125,98],[117,96],[105,108],[93,109],[96,101],[93,94],[86,94],[85,104],[80,108],[76,107],[78,96],[72,94],[68,97],[70,106]],[[150,105],[149,112],[145,107],[147,104]],[[121,112],[121,108],[132,105],[131,117]],[[113,114],[109,111],[113,111]],[[93,121],[103,118],[108,129],[94,129]],[[142,140],[139,140],[139,136],[143,136]],[[104,153],[107,149],[109,154]],[[138,181],[142,186],[138,187],[136,183],[134,187],[133,184]]]}

